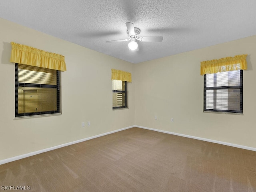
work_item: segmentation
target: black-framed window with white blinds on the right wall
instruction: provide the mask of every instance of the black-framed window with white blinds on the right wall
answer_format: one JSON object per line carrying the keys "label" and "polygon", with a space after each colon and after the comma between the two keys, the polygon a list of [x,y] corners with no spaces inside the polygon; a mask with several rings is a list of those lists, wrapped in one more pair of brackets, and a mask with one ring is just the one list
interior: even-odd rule
{"label": "black-framed window with white blinds on the right wall", "polygon": [[243,113],[243,70],[204,75],[204,111]]}

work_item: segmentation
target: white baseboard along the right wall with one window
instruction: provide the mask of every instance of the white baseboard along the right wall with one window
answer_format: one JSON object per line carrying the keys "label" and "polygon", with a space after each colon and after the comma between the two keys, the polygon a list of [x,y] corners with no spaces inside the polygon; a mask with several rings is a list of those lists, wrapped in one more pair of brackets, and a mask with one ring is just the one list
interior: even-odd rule
{"label": "white baseboard along the right wall with one window", "polygon": [[192,139],[197,139],[197,140],[202,140],[202,141],[207,141],[207,142],[212,142],[212,143],[217,143],[217,144],[222,144],[222,145],[227,145],[227,146],[246,149],[246,150],[251,150],[251,151],[256,151],[256,148],[253,148],[253,147],[248,147],[248,146],[243,146],[243,145],[238,145],[238,144],[233,144],[233,143],[228,143],[228,142],[222,142],[222,141],[217,141],[217,140],[212,140],[212,139],[195,137],[195,136],[190,136],[190,135],[185,135],[185,134],[180,134],[180,133],[174,133],[174,132],[169,132],[169,131],[164,131],[164,130],[159,130],[159,129],[153,129],[153,128],[148,128],[148,127],[138,126],[138,125],[134,125],[134,127],[138,127],[138,128],[142,128],[142,129],[148,129],[148,130],[152,130],[152,131],[158,131],[158,132],[177,135],[177,136],[182,136],[182,137],[187,137],[187,138],[192,138]]}

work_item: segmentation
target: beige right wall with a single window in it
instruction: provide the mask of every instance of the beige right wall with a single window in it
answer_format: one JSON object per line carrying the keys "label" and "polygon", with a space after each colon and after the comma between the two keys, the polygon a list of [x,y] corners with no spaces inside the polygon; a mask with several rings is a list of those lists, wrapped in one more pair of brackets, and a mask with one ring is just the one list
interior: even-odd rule
{"label": "beige right wall with a single window in it", "polygon": [[[200,62],[238,54],[248,54],[244,115],[204,113]],[[256,148],[255,64],[256,36],[140,63],[134,70],[135,124]]]}

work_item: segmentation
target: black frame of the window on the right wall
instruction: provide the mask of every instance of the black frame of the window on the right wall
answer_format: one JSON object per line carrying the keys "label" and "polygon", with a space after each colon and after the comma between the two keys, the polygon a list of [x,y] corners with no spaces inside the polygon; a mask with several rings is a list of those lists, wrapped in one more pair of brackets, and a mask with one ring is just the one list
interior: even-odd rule
{"label": "black frame of the window on the right wall", "polygon": [[[216,73],[214,73],[214,78],[216,78]],[[206,90],[223,90],[223,89],[240,89],[240,110],[218,110],[218,109],[207,109],[206,108]],[[206,74],[204,74],[204,112],[220,112],[220,113],[233,113],[233,114],[243,114],[243,70],[240,70],[240,86],[215,86],[206,87]]]}

